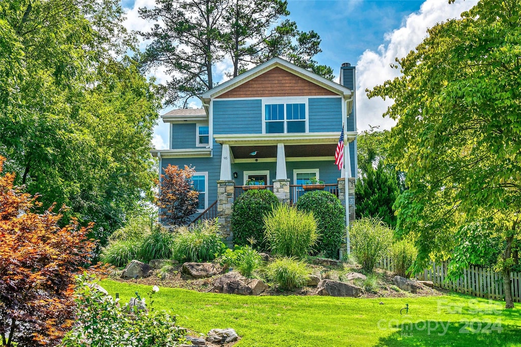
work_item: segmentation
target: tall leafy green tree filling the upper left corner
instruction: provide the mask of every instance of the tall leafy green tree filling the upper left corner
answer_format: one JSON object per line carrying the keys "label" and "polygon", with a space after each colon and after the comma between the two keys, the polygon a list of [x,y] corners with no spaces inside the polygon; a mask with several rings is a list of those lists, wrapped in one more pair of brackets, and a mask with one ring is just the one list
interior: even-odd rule
{"label": "tall leafy green tree filling the upper left corner", "polygon": [[[116,0],[0,3],[0,154],[16,184],[106,237],[152,186],[158,88]],[[150,194],[149,194],[150,195]]]}

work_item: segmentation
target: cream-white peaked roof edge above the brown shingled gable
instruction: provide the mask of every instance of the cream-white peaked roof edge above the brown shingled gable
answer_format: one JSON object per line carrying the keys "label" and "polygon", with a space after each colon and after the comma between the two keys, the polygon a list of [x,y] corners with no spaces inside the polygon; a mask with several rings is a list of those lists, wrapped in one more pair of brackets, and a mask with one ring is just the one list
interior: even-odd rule
{"label": "cream-white peaked roof edge above the brown shingled gable", "polygon": [[229,81],[226,81],[225,83],[222,83],[210,89],[209,91],[201,95],[201,99],[203,100],[203,102],[208,102],[210,98],[215,98],[221,94],[231,91],[231,89],[238,87],[256,78],[257,76],[277,67],[281,68],[282,70],[286,70],[296,76],[299,76],[307,81],[310,81],[316,85],[319,85],[322,88],[328,89],[329,91],[332,91],[338,95],[342,95],[346,100],[352,98],[353,96],[353,92],[351,91],[351,89],[344,87],[343,85],[340,85],[336,82],[330,81],[320,75],[317,75],[316,73],[296,66],[293,63],[286,61],[282,58],[276,57],[262,63],[261,65],[256,66],[255,68],[249,71],[240,74],[239,76]]}

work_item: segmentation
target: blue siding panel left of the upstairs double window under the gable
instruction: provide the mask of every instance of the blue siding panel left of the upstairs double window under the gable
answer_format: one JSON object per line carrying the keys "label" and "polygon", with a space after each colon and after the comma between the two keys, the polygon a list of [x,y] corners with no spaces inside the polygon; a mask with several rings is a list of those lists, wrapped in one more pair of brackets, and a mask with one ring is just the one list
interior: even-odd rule
{"label": "blue siding panel left of the upstairs double window under the gable", "polygon": [[262,134],[262,101],[214,100],[214,134]]}

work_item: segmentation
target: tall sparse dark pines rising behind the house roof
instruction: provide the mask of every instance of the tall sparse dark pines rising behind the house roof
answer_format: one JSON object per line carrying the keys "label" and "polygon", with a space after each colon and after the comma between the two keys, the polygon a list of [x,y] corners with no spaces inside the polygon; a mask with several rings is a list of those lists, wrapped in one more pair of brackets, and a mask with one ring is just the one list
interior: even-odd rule
{"label": "tall sparse dark pines rising behind the house roof", "polygon": [[225,56],[233,62],[233,77],[248,63],[281,56],[332,79],[332,69],[313,60],[321,52],[320,36],[299,31],[294,21],[276,25],[287,15],[286,0],[158,0],[154,8],[140,8],[140,16],[154,23],[140,32],[151,40],[141,60],[146,68],[164,66],[172,75],[168,104],[186,105],[213,88],[214,67]]}

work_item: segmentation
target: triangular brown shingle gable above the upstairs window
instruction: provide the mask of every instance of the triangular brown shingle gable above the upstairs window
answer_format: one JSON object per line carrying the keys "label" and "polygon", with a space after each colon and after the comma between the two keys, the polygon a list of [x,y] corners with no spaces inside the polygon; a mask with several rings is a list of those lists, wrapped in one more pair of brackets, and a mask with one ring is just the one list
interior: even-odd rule
{"label": "triangular brown shingle gable above the upstairs window", "polygon": [[339,95],[300,76],[275,67],[217,98]]}

